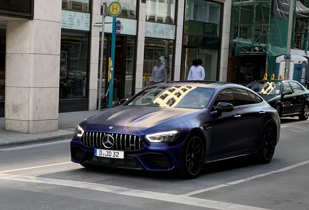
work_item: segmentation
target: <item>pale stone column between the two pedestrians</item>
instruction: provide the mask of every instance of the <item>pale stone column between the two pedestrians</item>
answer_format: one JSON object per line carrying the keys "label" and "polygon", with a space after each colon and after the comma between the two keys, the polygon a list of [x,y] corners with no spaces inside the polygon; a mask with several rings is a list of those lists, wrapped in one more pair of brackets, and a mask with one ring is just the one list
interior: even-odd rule
{"label": "pale stone column between the two pedestrians", "polygon": [[175,61],[174,66],[174,81],[180,80],[180,69],[181,69],[181,52],[182,47],[182,35],[184,28],[184,17],[185,17],[185,0],[178,1],[178,14],[177,14],[177,28],[176,28],[176,39],[175,39]]}

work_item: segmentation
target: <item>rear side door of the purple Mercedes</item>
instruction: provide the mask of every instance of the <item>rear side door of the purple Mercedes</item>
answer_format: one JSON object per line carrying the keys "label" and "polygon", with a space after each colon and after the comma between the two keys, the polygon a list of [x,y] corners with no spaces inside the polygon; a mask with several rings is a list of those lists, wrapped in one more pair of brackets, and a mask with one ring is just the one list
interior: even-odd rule
{"label": "rear side door of the purple Mercedes", "polygon": [[235,140],[237,143],[236,150],[245,151],[253,149],[260,138],[264,126],[266,110],[261,106],[261,100],[257,100],[254,93],[245,89],[233,88],[233,97],[235,104],[241,111],[239,132],[240,139]]}

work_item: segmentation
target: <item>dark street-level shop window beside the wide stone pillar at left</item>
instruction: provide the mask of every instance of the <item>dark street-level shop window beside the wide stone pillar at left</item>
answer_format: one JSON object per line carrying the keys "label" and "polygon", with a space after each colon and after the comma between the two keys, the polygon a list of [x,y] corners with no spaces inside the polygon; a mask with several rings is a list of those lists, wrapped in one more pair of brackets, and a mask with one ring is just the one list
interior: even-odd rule
{"label": "dark street-level shop window beside the wide stone pillar at left", "polygon": [[59,99],[86,98],[88,33],[61,35]]}

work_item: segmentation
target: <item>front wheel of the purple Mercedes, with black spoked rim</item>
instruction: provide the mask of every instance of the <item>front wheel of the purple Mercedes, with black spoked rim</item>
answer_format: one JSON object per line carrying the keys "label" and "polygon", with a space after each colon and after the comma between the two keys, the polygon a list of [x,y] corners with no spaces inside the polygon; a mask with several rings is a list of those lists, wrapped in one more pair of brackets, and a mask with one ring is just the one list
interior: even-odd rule
{"label": "front wheel of the purple Mercedes, with black spoked rim", "polygon": [[181,155],[180,177],[193,179],[196,178],[204,164],[205,148],[200,137],[191,136],[185,143]]}

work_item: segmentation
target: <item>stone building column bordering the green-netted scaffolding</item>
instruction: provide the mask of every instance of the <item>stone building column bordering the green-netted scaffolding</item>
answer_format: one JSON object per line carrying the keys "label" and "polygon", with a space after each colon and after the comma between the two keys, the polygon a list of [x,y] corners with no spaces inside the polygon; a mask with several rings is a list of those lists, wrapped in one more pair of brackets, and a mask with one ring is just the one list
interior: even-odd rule
{"label": "stone building column bordering the green-netted scaffolding", "polygon": [[219,80],[226,81],[232,0],[224,0]]}

